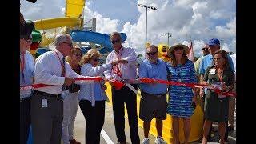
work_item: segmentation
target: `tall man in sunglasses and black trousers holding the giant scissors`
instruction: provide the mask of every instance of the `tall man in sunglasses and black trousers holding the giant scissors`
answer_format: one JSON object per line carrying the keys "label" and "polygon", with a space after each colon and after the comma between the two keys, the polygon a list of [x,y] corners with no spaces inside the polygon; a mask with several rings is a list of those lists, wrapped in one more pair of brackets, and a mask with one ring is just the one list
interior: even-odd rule
{"label": "tall man in sunglasses and black trousers holding the giant scissors", "polygon": [[[104,72],[107,79],[134,79],[136,78],[136,53],[132,48],[122,46],[121,35],[118,32],[110,34],[110,42],[114,50],[107,56],[106,63],[120,60],[112,70]],[[120,62],[119,61],[119,62]],[[137,88],[137,86],[132,85]],[[137,100],[136,94],[127,86],[123,86],[121,90],[115,90],[112,86],[112,103],[114,113],[114,126],[118,138],[118,143],[126,143],[125,134],[125,111],[124,103],[128,113],[130,126],[130,139],[133,144],[139,144],[138,137],[138,117],[137,117]]]}

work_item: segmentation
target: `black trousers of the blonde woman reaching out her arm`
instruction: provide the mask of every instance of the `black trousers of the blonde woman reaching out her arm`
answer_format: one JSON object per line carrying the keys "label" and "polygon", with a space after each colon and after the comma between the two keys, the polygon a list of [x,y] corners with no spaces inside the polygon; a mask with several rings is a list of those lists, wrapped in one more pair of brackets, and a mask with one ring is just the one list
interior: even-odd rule
{"label": "black trousers of the blonde woman reaching out her arm", "polygon": [[105,119],[105,101],[96,101],[92,107],[90,101],[81,100],[79,106],[86,118],[86,143],[99,144]]}

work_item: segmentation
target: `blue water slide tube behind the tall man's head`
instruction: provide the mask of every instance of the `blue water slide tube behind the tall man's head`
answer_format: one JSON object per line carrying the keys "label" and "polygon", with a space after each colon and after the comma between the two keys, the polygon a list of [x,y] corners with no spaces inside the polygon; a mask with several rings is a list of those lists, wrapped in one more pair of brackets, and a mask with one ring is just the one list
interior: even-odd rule
{"label": "blue water slide tube behind the tall man's head", "polygon": [[[120,33],[122,42],[126,41],[126,33]],[[73,30],[70,33],[73,42],[92,42],[106,47],[107,51],[112,51],[113,46],[110,42],[110,34],[97,33],[91,30]]]}

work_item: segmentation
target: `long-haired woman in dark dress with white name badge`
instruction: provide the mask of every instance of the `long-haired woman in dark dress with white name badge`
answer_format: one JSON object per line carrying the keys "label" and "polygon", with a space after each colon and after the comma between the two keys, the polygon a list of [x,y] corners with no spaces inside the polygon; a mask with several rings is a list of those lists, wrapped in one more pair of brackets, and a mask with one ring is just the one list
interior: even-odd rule
{"label": "long-haired woman in dark dress with white name badge", "polygon": [[[234,72],[228,66],[228,58],[225,50],[218,50],[214,53],[213,66],[209,66],[206,69],[204,76],[203,84],[207,83],[218,86],[222,91],[231,91],[233,89]],[[224,144],[225,122],[227,121],[229,112],[228,97],[216,94],[212,90],[207,90],[204,110],[206,120],[203,126],[202,144],[206,144],[207,142],[206,138],[212,122],[218,122],[220,143]]]}

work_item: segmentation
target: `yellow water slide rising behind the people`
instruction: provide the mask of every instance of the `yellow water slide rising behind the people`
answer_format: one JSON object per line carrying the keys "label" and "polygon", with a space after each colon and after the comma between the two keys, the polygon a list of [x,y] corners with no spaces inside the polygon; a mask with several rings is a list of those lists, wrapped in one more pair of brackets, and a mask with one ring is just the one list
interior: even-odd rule
{"label": "yellow water slide rising behind the people", "polygon": [[[56,29],[59,27],[68,28],[79,28],[83,26],[83,10],[86,0],[66,0],[66,12],[65,17],[61,18],[46,18],[34,21],[35,28],[37,30],[47,30]],[[57,32],[57,33],[56,33]],[[49,33],[49,32],[47,32]],[[59,33],[66,33],[66,30],[55,30],[51,31],[50,34],[44,34],[42,36],[42,42],[40,46],[48,46],[54,41],[54,37]]]}

